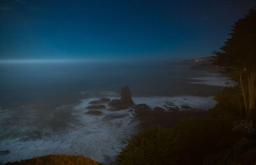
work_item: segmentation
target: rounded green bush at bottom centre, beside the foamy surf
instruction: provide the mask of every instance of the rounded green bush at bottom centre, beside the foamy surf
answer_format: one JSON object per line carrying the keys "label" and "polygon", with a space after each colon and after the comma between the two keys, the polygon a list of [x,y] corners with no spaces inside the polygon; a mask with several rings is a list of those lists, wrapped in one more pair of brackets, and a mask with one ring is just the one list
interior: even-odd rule
{"label": "rounded green bush at bottom centre, beside the foamy surf", "polygon": [[169,159],[171,134],[161,127],[146,129],[133,136],[122,149],[116,162],[120,164],[172,164]]}

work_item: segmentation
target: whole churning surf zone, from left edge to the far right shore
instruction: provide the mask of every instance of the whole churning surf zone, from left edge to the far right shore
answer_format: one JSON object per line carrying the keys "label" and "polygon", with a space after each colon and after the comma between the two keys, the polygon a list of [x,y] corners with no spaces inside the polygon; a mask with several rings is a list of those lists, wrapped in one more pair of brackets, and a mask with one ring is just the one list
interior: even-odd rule
{"label": "whole churning surf zone, from left edge to the far right shore", "polygon": [[[184,66],[182,69],[193,68]],[[182,90],[188,94],[175,94],[175,92],[173,96],[134,94],[132,95],[134,103],[146,103],[150,108],[156,106],[164,108],[166,102],[172,102],[180,110],[183,110],[183,105],[201,110],[214,107],[215,101],[212,98],[215,93],[223,89],[223,85],[214,85],[212,82],[215,81],[215,84],[218,84],[227,79],[220,79],[218,77],[220,75],[207,73],[204,70],[195,72],[198,73],[196,78],[184,79],[187,85]],[[212,77],[212,79],[207,79],[207,77]],[[207,80],[208,82],[211,80],[211,83],[209,84]],[[224,85],[227,84],[224,83]],[[90,101],[99,99],[99,97],[116,99],[119,96],[119,92],[115,91],[85,90],[76,95],[67,94],[62,97],[48,97],[21,103],[13,111],[2,108],[1,111],[4,111],[5,115],[3,115],[4,120],[1,124],[4,126],[4,121],[8,121],[12,122],[15,127],[9,129],[7,126],[4,129],[8,131],[2,135],[8,136],[9,140],[2,141],[0,149],[9,149],[11,152],[5,156],[0,155],[0,162],[19,161],[47,154],[80,154],[98,162],[111,164],[121,148],[125,146],[125,141],[132,134],[138,133],[140,121],[134,118],[129,110],[109,111],[106,109],[102,110],[100,116],[84,113]],[[22,109],[20,109],[21,106]],[[18,111],[21,115],[16,117],[15,114]],[[12,135],[12,131],[15,135]],[[4,139],[3,136],[2,139]],[[36,149],[42,144],[46,144],[44,148]]]}

